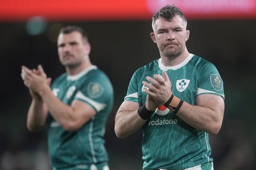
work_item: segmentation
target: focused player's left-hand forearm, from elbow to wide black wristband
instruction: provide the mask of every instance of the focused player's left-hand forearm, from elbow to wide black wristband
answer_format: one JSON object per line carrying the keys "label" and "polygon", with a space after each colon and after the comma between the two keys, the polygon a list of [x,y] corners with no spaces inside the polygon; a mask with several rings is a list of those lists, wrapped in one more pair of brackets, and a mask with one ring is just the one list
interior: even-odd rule
{"label": "focused player's left-hand forearm, from elbow to wide black wristband", "polygon": [[115,118],[115,133],[118,138],[127,137],[139,130],[147,120],[141,119],[138,109],[117,111]]}

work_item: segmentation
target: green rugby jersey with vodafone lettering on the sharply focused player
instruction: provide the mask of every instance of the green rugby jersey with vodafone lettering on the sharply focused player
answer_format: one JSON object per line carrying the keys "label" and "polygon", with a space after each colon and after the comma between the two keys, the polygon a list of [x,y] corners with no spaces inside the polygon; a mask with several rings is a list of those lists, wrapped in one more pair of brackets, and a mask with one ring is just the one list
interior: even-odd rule
{"label": "green rugby jersey with vodafone lettering on the sharply focused player", "polygon": [[[147,94],[142,81],[146,76],[162,75],[166,71],[172,83],[173,95],[192,105],[201,94],[219,95],[224,100],[223,82],[216,67],[205,59],[189,54],[179,65],[165,67],[161,58],[136,70],[128,86],[125,101],[140,106]],[[168,108],[158,107],[143,129],[143,169],[185,169],[212,162],[208,133],[188,125]]]}

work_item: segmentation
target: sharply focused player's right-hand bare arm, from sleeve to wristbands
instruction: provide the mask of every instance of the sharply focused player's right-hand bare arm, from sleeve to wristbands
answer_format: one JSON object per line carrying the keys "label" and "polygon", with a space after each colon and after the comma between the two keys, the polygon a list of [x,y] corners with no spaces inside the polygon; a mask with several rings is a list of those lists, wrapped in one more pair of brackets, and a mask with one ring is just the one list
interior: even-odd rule
{"label": "sharply focused player's right-hand bare arm, from sleeve to wristbands", "polygon": [[197,96],[196,105],[183,102],[177,116],[190,126],[217,134],[221,128],[224,115],[224,100],[214,94]]}

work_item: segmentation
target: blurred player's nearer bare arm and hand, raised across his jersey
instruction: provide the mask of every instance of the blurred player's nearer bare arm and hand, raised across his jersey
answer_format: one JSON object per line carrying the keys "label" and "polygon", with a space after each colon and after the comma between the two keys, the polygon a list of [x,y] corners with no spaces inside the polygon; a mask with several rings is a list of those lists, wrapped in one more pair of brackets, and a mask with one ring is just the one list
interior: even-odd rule
{"label": "blurred player's nearer bare arm and hand, raised across his jersey", "polygon": [[[22,78],[24,84],[33,92],[40,95],[44,104],[33,103],[29,109],[29,122],[35,120],[36,111],[39,108],[44,108],[44,105],[50,111],[52,117],[60,123],[67,131],[75,131],[80,129],[92,116],[96,115],[96,111],[85,102],[74,100],[71,106],[60,101],[53,93],[47,83],[47,76],[41,65],[38,66],[38,73],[35,74],[32,70],[22,66]],[[40,112],[39,112],[40,113]],[[30,118],[32,117],[32,118]],[[34,118],[33,118],[34,117]],[[46,121],[46,118],[43,122]],[[39,125],[41,125],[40,122]],[[29,123],[30,124],[30,123]]]}

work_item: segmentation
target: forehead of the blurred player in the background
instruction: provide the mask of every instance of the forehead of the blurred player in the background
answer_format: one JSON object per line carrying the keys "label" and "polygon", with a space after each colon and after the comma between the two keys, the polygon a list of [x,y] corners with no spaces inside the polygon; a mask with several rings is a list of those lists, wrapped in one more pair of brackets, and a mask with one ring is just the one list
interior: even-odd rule
{"label": "forehead of the blurred player in the background", "polygon": [[60,33],[58,37],[58,44],[60,43],[68,43],[68,42],[79,42],[82,41],[82,34],[78,31],[73,31],[71,33]]}

